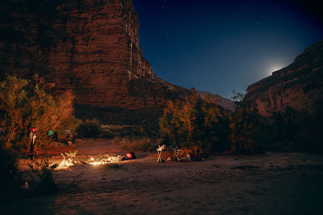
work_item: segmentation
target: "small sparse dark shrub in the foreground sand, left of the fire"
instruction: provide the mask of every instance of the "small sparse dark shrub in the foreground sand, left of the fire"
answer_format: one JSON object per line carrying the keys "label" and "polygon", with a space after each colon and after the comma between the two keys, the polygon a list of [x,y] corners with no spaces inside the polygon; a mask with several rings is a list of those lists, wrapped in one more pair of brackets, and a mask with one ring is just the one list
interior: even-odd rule
{"label": "small sparse dark shrub in the foreground sand, left of the fire", "polygon": [[[47,155],[48,156],[48,155]],[[29,163],[31,171],[40,179],[40,185],[45,192],[55,192],[58,190],[53,177],[54,170],[50,168],[51,163],[48,157],[42,158],[40,161]]]}

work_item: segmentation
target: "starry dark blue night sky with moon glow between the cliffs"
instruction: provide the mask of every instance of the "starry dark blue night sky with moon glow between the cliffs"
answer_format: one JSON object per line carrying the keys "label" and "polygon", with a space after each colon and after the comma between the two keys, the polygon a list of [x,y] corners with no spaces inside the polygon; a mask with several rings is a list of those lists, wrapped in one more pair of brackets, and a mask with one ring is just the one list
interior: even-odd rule
{"label": "starry dark blue night sky with moon glow between the cliffs", "polygon": [[132,0],[158,77],[225,98],[323,39],[319,1]]}

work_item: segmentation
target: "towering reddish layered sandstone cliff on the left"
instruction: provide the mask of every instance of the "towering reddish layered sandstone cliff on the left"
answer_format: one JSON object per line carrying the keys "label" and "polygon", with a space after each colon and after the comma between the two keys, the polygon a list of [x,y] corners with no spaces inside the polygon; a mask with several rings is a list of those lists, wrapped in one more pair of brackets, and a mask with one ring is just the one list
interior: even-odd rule
{"label": "towering reddish layered sandstone cliff on the left", "polygon": [[165,106],[188,90],[156,77],[138,42],[130,0],[7,0],[0,3],[0,70],[70,89],[78,104]]}

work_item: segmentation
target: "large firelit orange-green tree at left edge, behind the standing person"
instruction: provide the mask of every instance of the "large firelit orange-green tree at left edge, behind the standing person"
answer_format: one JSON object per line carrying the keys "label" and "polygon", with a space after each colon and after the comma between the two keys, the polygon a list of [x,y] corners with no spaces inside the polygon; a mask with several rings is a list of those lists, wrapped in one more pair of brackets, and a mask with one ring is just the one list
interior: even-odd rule
{"label": "large firelit orange-green tree at left edge, behind the standing person", "polygon": [[54,100],[48,89],[50,85],[38,75],[32,80],[7,75],[0,82],[0,138],[6,148],[11,140],[21,143],[29,138],[31,127],[38,128],[37,139],[41,140],[48,130],[58,130],[73,120],[72,93]]}

